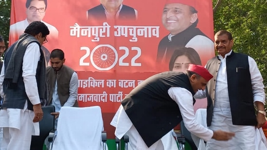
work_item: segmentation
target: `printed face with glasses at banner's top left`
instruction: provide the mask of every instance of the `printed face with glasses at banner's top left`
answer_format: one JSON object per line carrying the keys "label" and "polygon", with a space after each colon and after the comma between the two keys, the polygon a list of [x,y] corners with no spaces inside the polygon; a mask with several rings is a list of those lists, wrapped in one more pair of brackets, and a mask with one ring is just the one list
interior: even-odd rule
{"label": "printed face with glasses at banner's top left", "polygon": [[29,8],[26,10],[27,20],[41,21],[45,16],[45,2],[43,0],[32,0]]}

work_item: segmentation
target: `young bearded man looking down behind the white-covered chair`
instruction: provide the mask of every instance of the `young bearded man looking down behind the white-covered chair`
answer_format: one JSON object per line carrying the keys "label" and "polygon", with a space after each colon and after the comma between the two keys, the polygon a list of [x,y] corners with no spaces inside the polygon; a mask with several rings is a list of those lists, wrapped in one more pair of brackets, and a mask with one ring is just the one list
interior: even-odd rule
{"label": "young bearded man looking down behind the white-covered chair", "polygon": [[[78,107],[78,75],[70,67],[64,65],[65,56],[63,50],[51,51],[50,64],[46,68],[48,79],[48,104],[55,106],[55,118],[58,117],[61,107]],[[55,127],[57,126],[57,119]]]}

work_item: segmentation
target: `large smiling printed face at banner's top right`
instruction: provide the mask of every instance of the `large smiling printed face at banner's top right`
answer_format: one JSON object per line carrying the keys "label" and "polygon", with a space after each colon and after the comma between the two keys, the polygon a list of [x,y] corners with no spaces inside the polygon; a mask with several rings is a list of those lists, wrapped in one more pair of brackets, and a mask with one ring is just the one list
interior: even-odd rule
{"label": "large smiling printed face at banner's top right", "polygon": [[197,16],[191,12],[190,6],[180,3],[166,4],[162,13],[162,23],[172,35],[184,31],[196,19]]}

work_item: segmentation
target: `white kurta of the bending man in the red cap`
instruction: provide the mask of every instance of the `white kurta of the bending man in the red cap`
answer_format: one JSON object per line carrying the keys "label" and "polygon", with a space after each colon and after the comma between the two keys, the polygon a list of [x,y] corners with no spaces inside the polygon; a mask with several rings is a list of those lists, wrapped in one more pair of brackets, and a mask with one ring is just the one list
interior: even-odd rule
{"label": "white kurta of the bending man in the red cap", "polygon": [[[196,123],[192,94],[181,87],[171,87],[168,90],[168,94],[178,103],[186,128],[205,141],[210,140],[213,136],[213,131]],[[123,106],[120,106],[110,124],[116,127],[115,135],[118,138],[121,139],[125,133],[129,135],[130,150],[178,150],[176,141],[171,134],[172,131],[148,148],[125,113]],[[162,146],[164,149],[162,149]]]}

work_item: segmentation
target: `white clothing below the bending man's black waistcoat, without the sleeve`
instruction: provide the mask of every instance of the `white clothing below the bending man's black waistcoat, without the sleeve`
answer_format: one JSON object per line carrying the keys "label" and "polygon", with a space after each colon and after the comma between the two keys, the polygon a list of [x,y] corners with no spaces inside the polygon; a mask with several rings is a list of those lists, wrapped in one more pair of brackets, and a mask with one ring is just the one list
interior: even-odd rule
{"label": "white clothing below the bending man's black waistcoat, without the sleeve", "polygon": [[121,139],[125,133],[129,136],[128,150],[178,150],[175,138],[172,136],[172,131],[165,134],[160,140],[148,148],[127,116],[122,105],[113,117],[110,125],[116,128],[115,135],[119,139]]}

